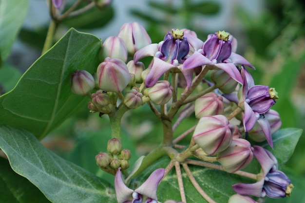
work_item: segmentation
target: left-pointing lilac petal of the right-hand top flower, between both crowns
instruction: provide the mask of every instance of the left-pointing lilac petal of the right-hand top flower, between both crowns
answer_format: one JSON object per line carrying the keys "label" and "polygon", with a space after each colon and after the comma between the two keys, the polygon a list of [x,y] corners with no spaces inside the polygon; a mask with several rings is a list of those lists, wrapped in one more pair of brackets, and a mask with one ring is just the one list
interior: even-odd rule
{"label": "left-pointing lilac petal of the right-hand top flower, between both crowns", "polygon": [[214,65],[214,63],[199,52],[194,52],[193,55],[184,61],[183,69],[193,69],[202,65]]}

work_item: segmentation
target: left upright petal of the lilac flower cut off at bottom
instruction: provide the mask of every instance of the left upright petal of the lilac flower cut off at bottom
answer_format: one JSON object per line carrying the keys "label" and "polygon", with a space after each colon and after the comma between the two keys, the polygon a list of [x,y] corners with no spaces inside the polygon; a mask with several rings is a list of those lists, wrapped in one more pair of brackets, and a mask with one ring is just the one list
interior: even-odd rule
{"label": "left upright petal of the lilac flower cut off at bottom", "polygon": [[114,186],[115,186],[116,200],[118,203],[124,203],[128,200],[131,200],[133,190],[128,188],[124,184],[120,168],[117,169],[117,172],[115,174]]}

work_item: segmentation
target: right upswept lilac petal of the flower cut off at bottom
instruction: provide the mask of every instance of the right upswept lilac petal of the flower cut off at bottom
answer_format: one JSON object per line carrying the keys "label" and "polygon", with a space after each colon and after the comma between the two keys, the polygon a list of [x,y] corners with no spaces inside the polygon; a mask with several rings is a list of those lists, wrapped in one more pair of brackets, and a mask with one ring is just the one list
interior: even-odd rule
{"label": "right upswept lilac petal of the flower cut off at bottom", "polygon": [[157,201],[157,187],[164,176],[164,168],[152,172],[148,179],[135,192]]}

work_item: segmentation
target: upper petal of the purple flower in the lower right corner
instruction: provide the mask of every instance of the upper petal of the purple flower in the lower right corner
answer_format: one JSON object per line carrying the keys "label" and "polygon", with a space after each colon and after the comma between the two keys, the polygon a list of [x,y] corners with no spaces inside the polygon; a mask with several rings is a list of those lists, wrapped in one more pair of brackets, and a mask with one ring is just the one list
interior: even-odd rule
{"label": "upper petal of the purple flower in the lower right corner", "polygon": [[[274,161],[272,159],[272,158],[274,158],[274,159],[276,159],[276,158],[273,155],[272,155],[272,158],[270,158],[269,154],[267,153],[267,149],[265,149],[265,148],[262,148],[260,146],[253,146],[253,148],[254,148],[253,154],[254,154],[255,158],[257,159],[257,161],[262,166],[264,175],[266,176],[267,173],[269,173],[270,169],[273,166],[276,166],[276,164],[274,163]],[[269,152],[269,153],[271,153],[271,152]]]}

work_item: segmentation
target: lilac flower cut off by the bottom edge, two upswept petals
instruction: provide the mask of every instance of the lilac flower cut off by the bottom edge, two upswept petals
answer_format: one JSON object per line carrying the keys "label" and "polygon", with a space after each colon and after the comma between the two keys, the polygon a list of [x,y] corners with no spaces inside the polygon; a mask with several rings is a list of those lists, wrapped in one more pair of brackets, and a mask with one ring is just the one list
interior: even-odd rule
{"label": "lilac flower cut off by the bottom edge, two upswept petals", "polygon": [[128,188],[118,169],[114,179],[117,203],[157,203],[157,187],[164,176],[164,168],[152,172],[148,179],[137,189]]}

